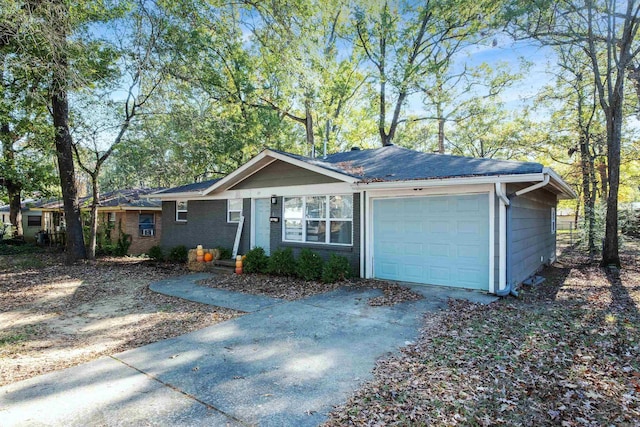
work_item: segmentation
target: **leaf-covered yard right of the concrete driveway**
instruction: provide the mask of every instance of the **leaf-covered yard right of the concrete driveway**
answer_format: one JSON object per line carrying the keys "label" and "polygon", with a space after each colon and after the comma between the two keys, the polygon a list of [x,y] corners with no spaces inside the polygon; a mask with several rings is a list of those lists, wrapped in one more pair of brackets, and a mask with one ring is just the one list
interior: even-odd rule
{"label": "leaf-covered yard right of the concrete driveway", "polygon": [[640,425],[640,242],[622,257],[568,248],[520,299],[451,301],[327,425]]}

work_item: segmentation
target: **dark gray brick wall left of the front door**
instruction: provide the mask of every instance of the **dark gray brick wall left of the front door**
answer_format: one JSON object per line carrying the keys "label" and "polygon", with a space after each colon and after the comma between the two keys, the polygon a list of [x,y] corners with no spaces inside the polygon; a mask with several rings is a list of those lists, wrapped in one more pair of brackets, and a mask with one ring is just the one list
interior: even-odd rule
{"label": "dark gray brick wall left of the front door", "polygon": [[[178,245],[195,248],[222,246],[233,248],[238,224],[227,222],[226,200],[189,200],[187,221],[176,221],[175,202],[162,202],[162,248],[167,251]],[[251,201],[243,202],[245,222],[239,253],[249,250]]]}

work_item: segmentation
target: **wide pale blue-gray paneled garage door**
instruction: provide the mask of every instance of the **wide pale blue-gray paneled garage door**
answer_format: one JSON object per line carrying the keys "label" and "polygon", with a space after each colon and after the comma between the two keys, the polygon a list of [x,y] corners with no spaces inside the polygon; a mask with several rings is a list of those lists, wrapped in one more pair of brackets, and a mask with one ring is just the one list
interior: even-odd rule
{"label": "wide pale blue-gray paneled garage door", "polygon": [[380,279],[489,289],[487,194],[374,199]]}

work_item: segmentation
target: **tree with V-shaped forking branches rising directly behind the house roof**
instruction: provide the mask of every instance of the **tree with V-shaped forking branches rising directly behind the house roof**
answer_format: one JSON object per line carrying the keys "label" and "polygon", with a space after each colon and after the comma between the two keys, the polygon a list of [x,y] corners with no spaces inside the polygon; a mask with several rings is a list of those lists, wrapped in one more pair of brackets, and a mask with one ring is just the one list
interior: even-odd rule
{"label": "tree with V-shaped forking branches rising directly behind the house roof", "polygon": [[[494,2],[426,1],[395,8],[381,5],[356,8],[356,44],[373,66],[378,84],[378,133],[382,145],[393,141],[405,121],[409,97],[434,70],[449,63],[456,52],[482,37]],[[424,87],[424,85],[422,85]],[[392,113],[388,117],[387,107]]]}

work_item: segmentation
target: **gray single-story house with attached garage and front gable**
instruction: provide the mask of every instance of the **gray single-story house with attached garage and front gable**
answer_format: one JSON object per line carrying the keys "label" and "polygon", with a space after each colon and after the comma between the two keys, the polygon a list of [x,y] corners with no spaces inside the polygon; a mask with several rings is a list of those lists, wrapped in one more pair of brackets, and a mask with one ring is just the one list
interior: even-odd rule
{"label": "gray single-story house with attached garage and front gable", "polygon": [[507,294],[555,260],[556,204],[575,193],[539,163],[390,145],[323,159],[266,149],[153,197],[167,249],[309,248],[361,277]]}

